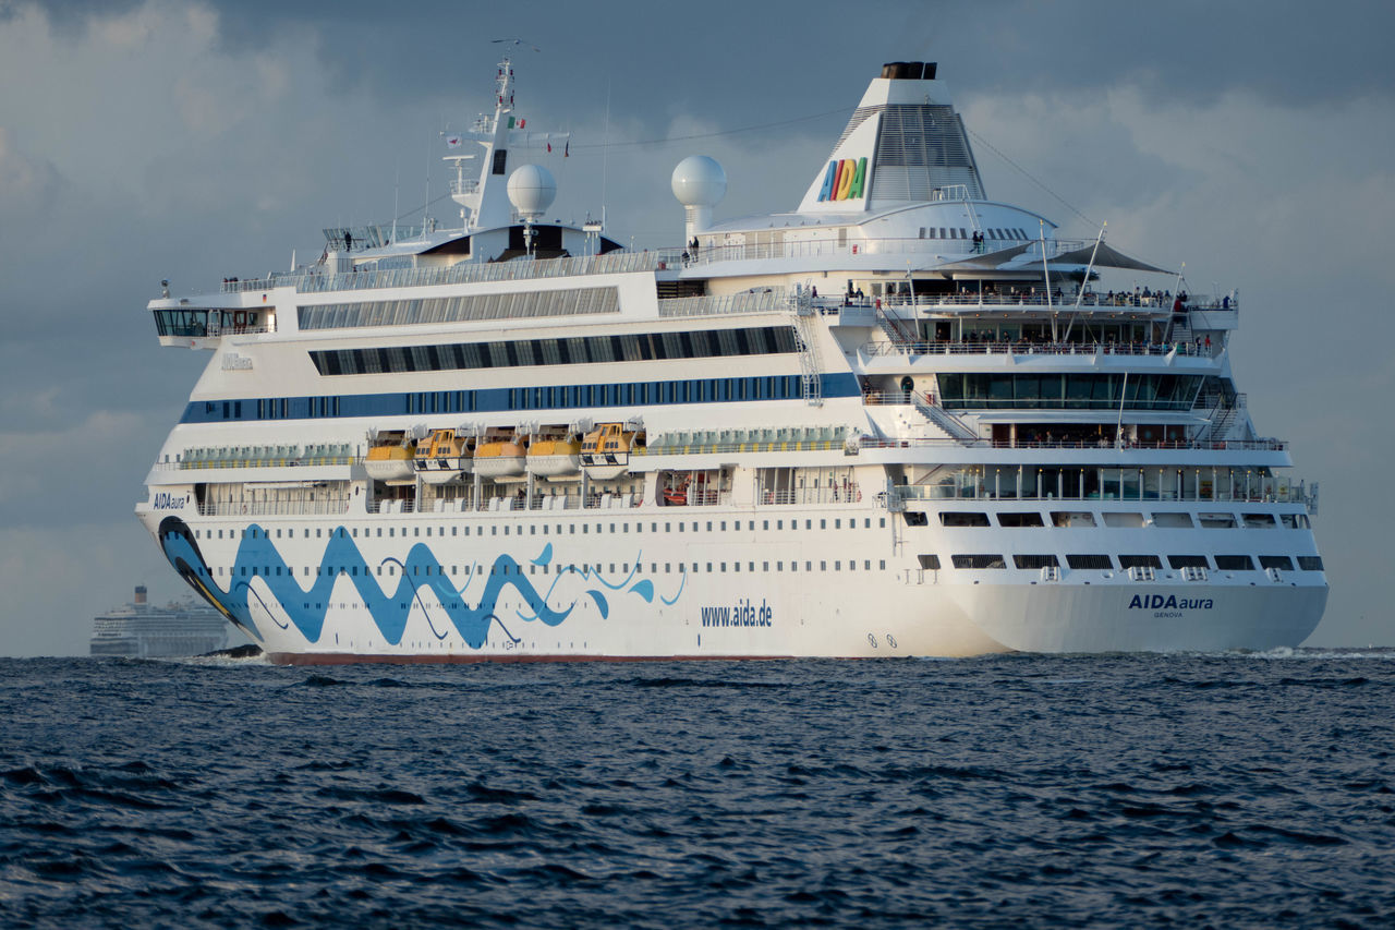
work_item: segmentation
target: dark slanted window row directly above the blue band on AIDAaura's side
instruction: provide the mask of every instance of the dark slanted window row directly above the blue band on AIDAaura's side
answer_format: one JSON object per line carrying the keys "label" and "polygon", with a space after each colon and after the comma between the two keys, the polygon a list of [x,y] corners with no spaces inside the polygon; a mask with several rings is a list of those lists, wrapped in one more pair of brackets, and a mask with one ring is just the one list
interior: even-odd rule
{"label": "dark slanted window row directly above the blue band on AIDAaura's side", "polygon": [[310,360],[315,363],[315,370],[319,374],[399,374],[403,371],[508,369],[531,364],[710,359],[778,355],[797,350],[794,330],[790,327],[748,327],[744,330],[632,332],[565,339],[410,345],[384,349],[319,349],[310,353]]}

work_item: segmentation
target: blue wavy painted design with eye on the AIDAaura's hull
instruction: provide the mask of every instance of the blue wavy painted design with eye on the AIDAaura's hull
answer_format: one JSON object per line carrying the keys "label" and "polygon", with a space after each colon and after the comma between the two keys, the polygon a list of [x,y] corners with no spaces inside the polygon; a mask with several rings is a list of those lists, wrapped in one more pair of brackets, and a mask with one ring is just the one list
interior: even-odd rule
{"label": "blue wavy painted design with eye on the AIDAaura's hull", "polygon": [[[364,560],[363,553],[359,552],[359,546],[342,526],[332,531],[319,561],[319,570],[315,573],[314,582],[308,588],[303,588],[296,582],[293,568],[280,557],[276,546],[268,539],[265,528],[258,524],[248,524],[246,533],[239,542],[230,573],[234,581],[226,592],[213,582],[213,573],[208,567],[208,561],[204,559],[198,543],[194,540],[194,533],[183,519],[179,517],[166,517],[160,521],[159,543],[165,552],[165,557],[180,577],[225,617],[240,626],[257,641],[265,641],[265,637],[252,619],[252,602],[280,628],[287,630],[294,626],[308,642],[318,642],[324,633],[325,617],[329,612],[329,595],[333,591],[335,582],[339,578],[347,578],[368,607],[368,614],[372,617],[378,631],[392,645],[402,642],[413,606],[420,607],[431,633],[438,640],[449,635],[449,631],[442,633],[432,621],[430,610],[421,598],[423,589],[435,593],[451,624],[470,648],[481,648],[488,641],[490,626],[495,623],[505,635],[519,642],[519,638],[504,627],[495,612],[499,595],[506,588],[513,588],[531,612],[525,614],[522,609],[518,610],[519,619],[525,621],[541,621],[548,627],[555,627],[566,620],[579,603],[579,598],[572,598],[572,602],[564,609],[548,606],[548,598],[555,591],[562,575],[576,574],[583,580],[594,577],[603,586],[619,591],[629,584],[639,570],[639,559],[636,559],[635,570],[624,581],[612,584],[601,578],[600,573],[590,567],[566,567],[554,574],[545,593],[538,593],[527,577],[525,577],[520,563],[509,554],[499,554],[490,568],[488,580],[480,592],[478,600],[474,606],[470,606],[463,595],[474,577],[483,574],[480,566],[474,566],[474,571],[472,571],[463,588],[456,588],[448,580],[445,568],[435,559],[431,549],[424,543],[414,543],[405,560],[386,559],[381,563],[391,563],[400,568],[396,588],[388,593],[374,580],[374,574]],[[552,545],[547,543],[541,554],[531,560],[531,564],[547,566],[551,560]],[[333,567],[333,571],[324,571],[325,566]],[[261,578],[262,584],[266,585],[280,610],[286,614],[285,623],[276,617],[273,607],[252,589],[252,578]],[[686,573],[684,573],[684,582],[686,582]],[[629,591],[646,602],[653,602],[653,584],[647,580],[635,584]],[[590,596],[596,603],[601,619],[610,616],[610,603],[600,591],[589,588],[583,593]],[[681,593],[682,584],[678,593],[674,595],[674,600],[668,600],[667,598],[661,598],[661,600],[671,605]]]}

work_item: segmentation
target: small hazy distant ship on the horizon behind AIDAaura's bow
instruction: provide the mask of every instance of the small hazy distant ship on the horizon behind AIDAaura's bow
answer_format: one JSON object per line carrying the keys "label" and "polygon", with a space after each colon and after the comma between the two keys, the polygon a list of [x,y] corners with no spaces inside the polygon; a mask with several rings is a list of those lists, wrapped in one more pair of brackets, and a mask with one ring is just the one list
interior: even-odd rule
{"label": "small hazy distant ship on the horizon behind AIDAaura's bow", "polygon": [[[91,654],[128,659],[176,659],[226,649],[232,626],[197,600],[149,603],[145,585],[135,599],[92,620]],[[236,637],[241,641],[241,635]]]}

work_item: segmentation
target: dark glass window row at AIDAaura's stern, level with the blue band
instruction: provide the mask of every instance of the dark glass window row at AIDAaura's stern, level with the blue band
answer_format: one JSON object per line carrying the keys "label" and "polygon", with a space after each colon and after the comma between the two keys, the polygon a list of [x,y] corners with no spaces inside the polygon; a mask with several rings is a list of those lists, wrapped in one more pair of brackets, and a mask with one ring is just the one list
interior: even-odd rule
{"label": "dark glass window row at AIDAaura's stern, level with the blue band", "polygon": [[[1189,374],[940,374],[946,408],[1190,409],[1205,378]],[[1127,384],[1126,384],[1127,381]]]}

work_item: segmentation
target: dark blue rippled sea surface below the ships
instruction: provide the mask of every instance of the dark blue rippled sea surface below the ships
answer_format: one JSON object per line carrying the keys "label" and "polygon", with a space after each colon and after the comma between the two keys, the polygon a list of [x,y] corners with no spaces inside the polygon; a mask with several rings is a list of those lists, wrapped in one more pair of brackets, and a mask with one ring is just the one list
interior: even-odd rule
{"label": "dark blue rippled sea surface below the ships", "polygon": [[0,660],[0,924],[1395,924],[1395,652]]}

